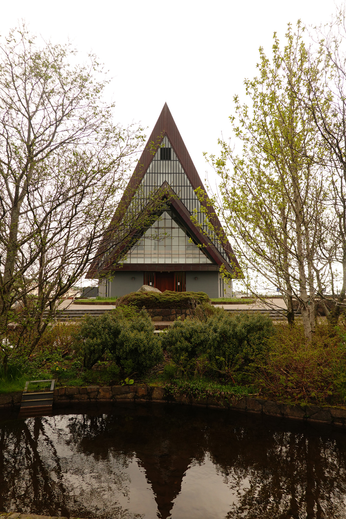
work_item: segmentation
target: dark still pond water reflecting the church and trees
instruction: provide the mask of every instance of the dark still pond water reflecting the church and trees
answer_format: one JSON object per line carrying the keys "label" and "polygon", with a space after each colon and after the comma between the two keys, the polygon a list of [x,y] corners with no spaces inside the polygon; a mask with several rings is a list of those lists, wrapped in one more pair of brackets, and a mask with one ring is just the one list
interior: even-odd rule
{"label": "dark still pond water reflecting the church and trees", "polygon": [[342,430],[187,406],[82,411],[0,420],[0,511],[346,517]]}

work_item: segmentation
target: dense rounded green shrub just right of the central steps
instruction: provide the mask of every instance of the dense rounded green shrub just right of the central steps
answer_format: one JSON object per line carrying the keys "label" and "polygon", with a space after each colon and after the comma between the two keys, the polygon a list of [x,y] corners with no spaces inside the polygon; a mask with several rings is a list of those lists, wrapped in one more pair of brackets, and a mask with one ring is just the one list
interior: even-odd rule
{"label": "dense rounded green shrub just right of the central steps", "polygon": [[[185,372],[216,371],[242,377],[257,365],[275,329],[260,313],[217,311],[206,321],[176,321],[162,337],[162,347]],[[251,371],[251,370],[250,370]],[[238,377],[241,380],[242,377]]]}

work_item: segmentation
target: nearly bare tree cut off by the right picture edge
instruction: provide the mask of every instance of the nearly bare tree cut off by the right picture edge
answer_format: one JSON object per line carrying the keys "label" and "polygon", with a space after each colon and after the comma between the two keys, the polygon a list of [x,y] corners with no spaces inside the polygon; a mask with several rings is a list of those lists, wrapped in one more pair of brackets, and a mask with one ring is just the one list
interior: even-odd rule
{"label": "nearly bare tree cut off by the right picture edge", "polygon": [[[296,92],[299,102],[310,111],[318,128],[327,155],[331,193],[329,211],[334,214],[337,225],[333,227],[330,240],[334,243],[329,259],[331,298],[323,294],[322,304],[327,319],[337,324],[340,313],[346,308],[346,24],[345,7],[339,9],[330,23],[317,28],[312,37],[318,48],[310,54],[309,66],[304,71],[306,88]],[[324,71],[321,97],[320,85],[316,85],[311,70]],[[328,106],[326,110],[326,101]],[[329,255],[329,253],[325,253]],[[342,285],[336,288],[337,271],[341,271]]]}

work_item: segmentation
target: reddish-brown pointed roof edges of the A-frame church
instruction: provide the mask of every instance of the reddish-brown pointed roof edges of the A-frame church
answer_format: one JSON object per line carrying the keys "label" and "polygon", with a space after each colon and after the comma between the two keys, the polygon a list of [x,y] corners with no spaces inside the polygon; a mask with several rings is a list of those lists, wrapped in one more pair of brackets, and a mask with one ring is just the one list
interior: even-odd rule
{"label": "reddish-brown pointed roof edges of the A-frame church", "polygon": [[[147,145],[141,155],[139,162],[137,163],[134,172],[131,176],[131,179],[123,193],[123,196],[118,204],[118,207],[114,213],[112,218],[112,222],[110,223],[108,229],[111,229],[112,226],[115,226],[117,222],[121,220],[122,215],[127,210],[129,204],[131,203],[132,197],[134,196],[136,189],[140,186],[145,174],[150,167],[151,162],[154,160],[155,153],[160,148],[162,141],[167,138],[170,146],[172,147],[176,158],[182,166],[182,169],[187,176],[189,183],[193,190],[200,187],[204,193],[206,190],[203,186],[203,183],[200,179],[200,176],[195,168],[195,165],[192,162],[192,159],[187,151],[185,143],[182,139],[181,134],[174,122],[172,114],[169,110],[167,103],[164,104],[161,114],[156,122],[154,130],[151,132],[150,137],[148,139]],[[165,142],[167,142],[167,139]],[[215,214],[213,207],[209,206],[207,208],[207,214],[209,216],[210,221],[212,222],[215,229],[217,229],[220,236],[224,237],[223,245],[213,243],[208,236],[206,236],[201,229],[196,226],[191,220],[191,213],[184,206],[181,200],[177,198],[177,195],[173,192],[172,187],[168,185],[167,182],[163,182],[161,186],[157,186],[158,194],[162,193],[162,197],[167,199],[167,201],[171,204],[172,208],[179,214],[181,220],[185,224],[185,226],[189,229],[190,233],[196,238],[196,240],[205,245],[207,247],[207,252],[212,257],[212,260],[215,262],[215,265],[209,266],[206,268],[207,270],[218,270],[220,266],[225,265],[226,269],[232,274],[232,277],[238,277],[240,272],[240,267],[237,261],[236,256],[233,253],[230,243],[225,237],[222,226]],[[202,203],[201,203],[202,205]],[[100,268],[99,263],[100,260],[96,258],[100,258],[105,250],[105,240],[101,243],[98,253],[94,261],[92,262],[90,269],[87,274],[87,278],[98,277],[100,270],[104,274],[109,270],[114,270],[116,266],[112,263],[112,256],[115,255],[116,251],[119,251],[119,247],[116,247],[112,254],[109,254],[107,259],[103,261],[102,266]],[[129,241],[127,242],[129,243]],[[133,242],[131,243],[133,244]],[[215,246],[216,245],[216,246]],[[124,245],[122,246],[122,248]],[[130,248],[127,245],[127,250]],[[120,247],[121,249],[121,247]],[[219,249],[219,250],[218,250]],[[125,251],[123,251],[125,252]],[[120,267],[120,266],[119,266]],[[157,264],[155,265],[155,268]],[[177,264],[175,265],[176,270],[185,270],[184,265]],[[197,268],[194,265],[194,269]],[[236,267],[236,269],[234,269]],[[145,264],[145,268],[143,265],[135,265],[131,263],[131,265],[123,265],[122,269],[131,269],[131,270],[151,270],[150,264]],[[202,268],[205,269],[205,268]]]}

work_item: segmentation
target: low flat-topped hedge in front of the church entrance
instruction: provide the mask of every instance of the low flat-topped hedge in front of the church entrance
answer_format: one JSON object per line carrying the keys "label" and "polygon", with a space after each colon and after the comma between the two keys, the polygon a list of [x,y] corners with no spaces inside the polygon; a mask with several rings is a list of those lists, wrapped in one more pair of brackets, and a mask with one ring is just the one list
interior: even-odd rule
{"label": "low flat-topped hedge in front of the church entrance", "polygon": [[205,292],[131,292],[118,297],[116,306],[133,305],[136,308],[194,308],[196,305],[209,303]]}

